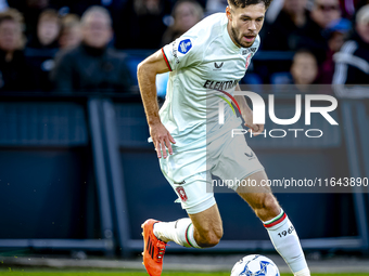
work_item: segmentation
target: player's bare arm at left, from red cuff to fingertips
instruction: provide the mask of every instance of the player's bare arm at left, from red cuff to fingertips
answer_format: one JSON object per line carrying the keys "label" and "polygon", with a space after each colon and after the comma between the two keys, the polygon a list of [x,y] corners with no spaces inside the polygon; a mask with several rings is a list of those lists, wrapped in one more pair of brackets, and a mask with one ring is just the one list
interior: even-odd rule
{"label": "player's bare arm at left, from red cuff to fingertips", "polygon": [[150,135],[153,140],[157,158],[162,158],[162,152],[163,157],[167,157],[166,148],[168,148],[168,152],[171,155],[173,149],[170,143],[176,143],[161,121],[156,98],[156,75],[167,71],[169,71],[169,68],[164,60],[162,50],[141,62],[137,69],[137,77],[150,128]]}

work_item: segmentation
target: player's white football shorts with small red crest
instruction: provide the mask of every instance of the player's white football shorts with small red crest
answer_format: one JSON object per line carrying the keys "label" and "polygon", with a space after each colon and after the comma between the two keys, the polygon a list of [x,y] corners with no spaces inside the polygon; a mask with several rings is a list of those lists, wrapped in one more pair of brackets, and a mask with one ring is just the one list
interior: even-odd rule
{"label": "player's white football shorts with small red crest", "polygon": [[[264,170],[244,135],[226,133],[207,146],[190,149],[174,147],[174,154],[161,158],[161,169],[189,214],[200,213],[215,205],[212,174],[236,190],[249,175]],[[229,180],[232,180],[231,182]]]}

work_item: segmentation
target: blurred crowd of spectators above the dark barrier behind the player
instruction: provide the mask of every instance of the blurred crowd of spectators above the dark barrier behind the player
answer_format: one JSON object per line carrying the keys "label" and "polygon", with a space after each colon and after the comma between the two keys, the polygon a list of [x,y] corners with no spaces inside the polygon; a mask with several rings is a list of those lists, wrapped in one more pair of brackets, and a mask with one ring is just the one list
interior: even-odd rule
{"label": "blurred crowd of spectators above the dark barrier behind the player", "polygon": [[[0,91],[137,93],[141,60],[226,6],[0,0]],[[270,58],[255,56],[242,83],[369,83],[369,0],[273,0],[260,38],[259,54]],[[158,83],[165,94],[165,78]]]}

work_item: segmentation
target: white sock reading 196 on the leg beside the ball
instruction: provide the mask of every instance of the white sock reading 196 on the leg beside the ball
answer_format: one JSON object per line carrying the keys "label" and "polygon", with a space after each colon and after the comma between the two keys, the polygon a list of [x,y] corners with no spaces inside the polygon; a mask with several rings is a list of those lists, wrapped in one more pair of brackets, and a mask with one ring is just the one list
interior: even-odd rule
{"label": "white sock reading 196 on the leg beside the ball", "polygon": [[264,222],[277,252],[284,259],[295,276],[310,276],[300,239],[287,214],[281,213]]}

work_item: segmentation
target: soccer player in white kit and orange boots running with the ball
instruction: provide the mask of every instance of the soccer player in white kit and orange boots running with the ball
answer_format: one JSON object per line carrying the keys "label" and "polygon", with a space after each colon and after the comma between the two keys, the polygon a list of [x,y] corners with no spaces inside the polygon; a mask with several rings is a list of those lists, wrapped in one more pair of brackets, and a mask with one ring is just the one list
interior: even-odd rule
{"label": "soccer player in white kit and orange boots running with the ball", "polygon": [[[231,139],[230,130],[240,128],[241,119],[228,108],[225,123],[219,124],[217,113],[214,118],[208,117],[208,109],[215,108],[214,98],[221,101],[215,96],[216,92],[226,98],[236,88],[239,90],[238,82],[259,47],[258,32],[270,1],[228,0],[226,13],[206,17],[138,66],[150,135],[161,169],[189,215],[174,222],[150,219],[142,224],[143,264],[151,276],[161,275],[168,241],[193,248],[219,242],[222,224],[214,193],[207,190],[211,174],[258,184],[267,180],[244,136]],[[158,110],[155,77],[166,71],[170,71],[167,95]],[[263,132],[264,126],[253,123],[253,113],[245,98],[234,98],[245,126]],[[270,189],[242,185],[229,185],[229,188],[262,220],[293,274],[310,275],[296,232]]]}

